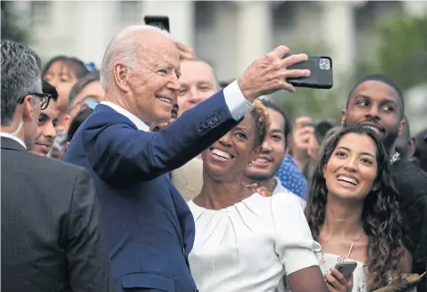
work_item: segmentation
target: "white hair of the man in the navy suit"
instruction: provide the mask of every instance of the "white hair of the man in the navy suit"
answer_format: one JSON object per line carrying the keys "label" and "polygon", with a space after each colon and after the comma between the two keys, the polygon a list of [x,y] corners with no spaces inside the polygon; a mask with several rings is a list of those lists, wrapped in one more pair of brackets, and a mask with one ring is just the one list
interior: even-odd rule
{"label": "white hair of the man in the navy suit", "polygon": [[130,68],[135,69],[138,64],[138,42],[136,42],[136,32],[152,31],[157,32],[167,39],[172,40],[172,36],[167,30],[153,27],[149,25],[136,25],[124,28],[120,33],[113,37],[113,40],[108,44],[105,49],[104,58],[102,60],[100,76],[101,86],[105,90],[110,76],[113,72],[113,63],[117,60],[123,62],[123,64]]}

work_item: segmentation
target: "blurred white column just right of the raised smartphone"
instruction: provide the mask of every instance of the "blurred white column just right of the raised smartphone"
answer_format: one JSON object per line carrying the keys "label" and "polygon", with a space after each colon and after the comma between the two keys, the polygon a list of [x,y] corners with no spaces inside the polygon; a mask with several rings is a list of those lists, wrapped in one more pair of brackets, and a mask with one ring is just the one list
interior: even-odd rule
{"label": "blurred white column just right of the raised smartphone", "polygon": [[322,2],[322,37],[330,48],[335,75],[351,73],[354,65],[355,25],[353,8],[346,1]]}

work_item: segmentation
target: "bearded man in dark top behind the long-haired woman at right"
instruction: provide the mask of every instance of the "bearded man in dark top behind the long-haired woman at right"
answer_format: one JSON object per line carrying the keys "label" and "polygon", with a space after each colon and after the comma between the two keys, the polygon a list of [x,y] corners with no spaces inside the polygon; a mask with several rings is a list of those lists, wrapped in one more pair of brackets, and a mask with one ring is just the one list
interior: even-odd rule
{"label": "bearded man in dark top behind the long-haired woman at right", "polygon": [[[413,272],[422,273],[427,261],[427,176],[395,149],[395,142],[404,129],[403,114],[404,100],[399,87],[385,75],[369,75],[350,92],[341,123],[373,130],[390,154],[394,183],[401,195],[400,211],[407,229],[405,246],[413,258]],[[418,287],[418,291],[424,289]]]}

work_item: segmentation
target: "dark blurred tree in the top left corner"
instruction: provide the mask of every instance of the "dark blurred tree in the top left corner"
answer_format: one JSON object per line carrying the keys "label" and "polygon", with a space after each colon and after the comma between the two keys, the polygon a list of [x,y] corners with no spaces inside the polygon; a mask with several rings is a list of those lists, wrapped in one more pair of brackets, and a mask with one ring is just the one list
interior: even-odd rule
{"label": "dark blurred tree in the top left corner", "polygon": [[2,1],[2,39],[8,39],[19,43],[27,43],[29,35],[27,30],[19,26],[19,16],[13,9],[12,1]]}

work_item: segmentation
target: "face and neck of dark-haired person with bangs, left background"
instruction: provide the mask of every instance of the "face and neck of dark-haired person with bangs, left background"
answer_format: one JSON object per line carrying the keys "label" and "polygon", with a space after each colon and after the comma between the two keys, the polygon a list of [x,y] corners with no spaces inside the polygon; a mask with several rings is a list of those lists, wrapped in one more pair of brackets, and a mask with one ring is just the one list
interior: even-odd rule
{"label": "face and neck of dark-haired person with bangs, left background", "polygon": [[58,111],[66,113],[68,109],[68,95],[74,83],[77,82],[77,77],[73,69],[63,61],[56,61],[50,65],[43,79],[58,91]]}

